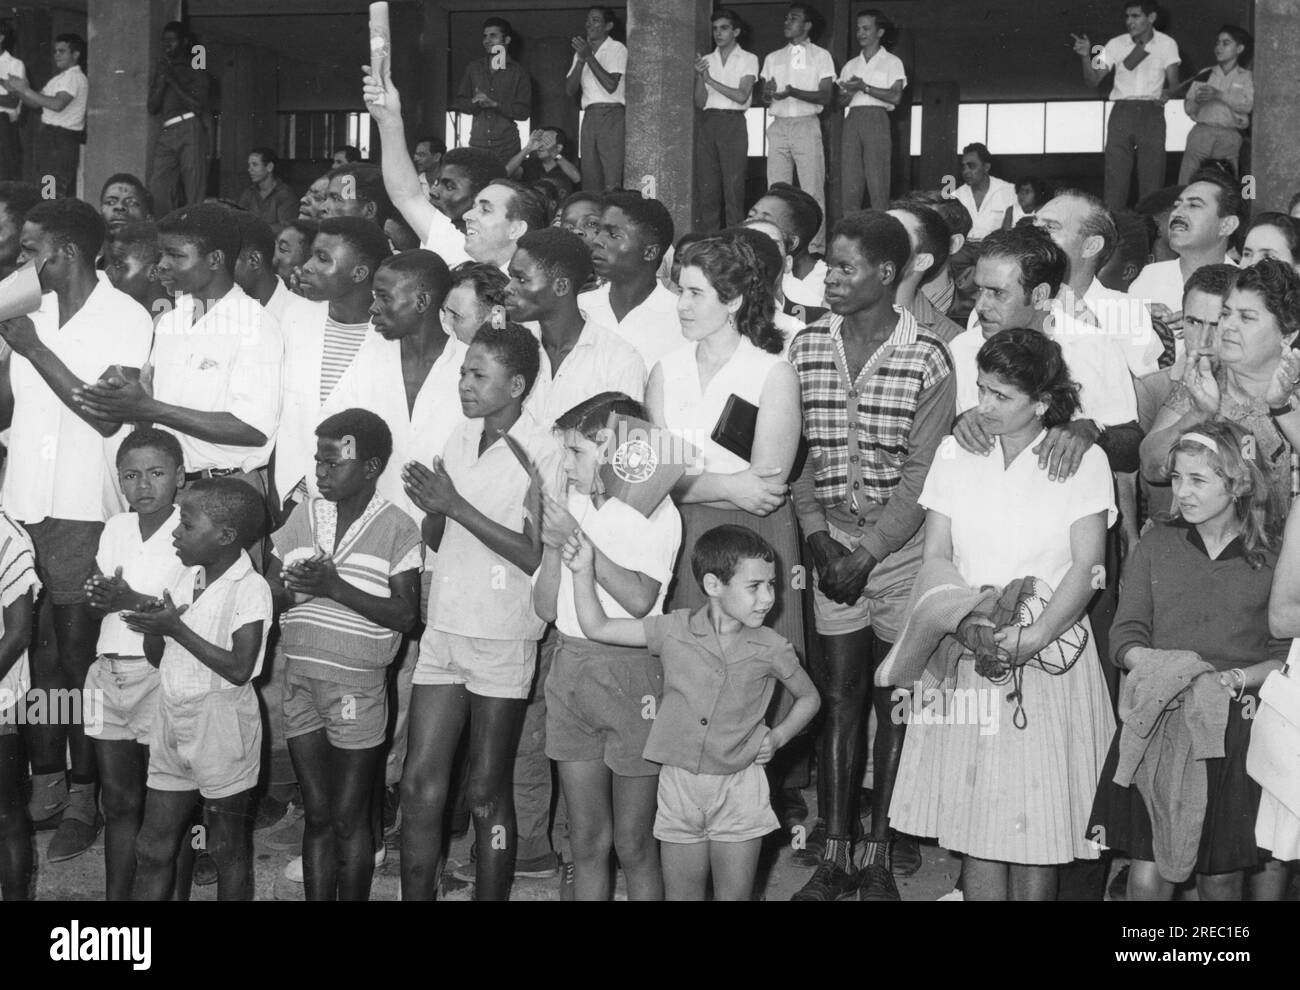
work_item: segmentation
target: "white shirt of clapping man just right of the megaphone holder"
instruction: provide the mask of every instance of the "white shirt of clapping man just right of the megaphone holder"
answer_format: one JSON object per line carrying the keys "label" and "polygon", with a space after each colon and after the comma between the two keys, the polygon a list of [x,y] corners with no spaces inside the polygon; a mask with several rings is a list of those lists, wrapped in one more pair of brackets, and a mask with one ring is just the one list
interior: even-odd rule
{"label": "white shirt of clapping man just right of the megaphone holder", "polygon": [[266,465],[280,425],[285,342],[256,299],[233,286],[194,321],[195,300],[178,295],[153,336],[153,398],[199,412],[225,412],[263,434],[256,447],[176,434],[187,472],[251,472]]}

